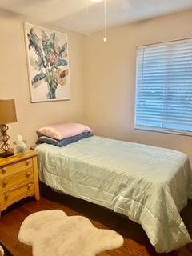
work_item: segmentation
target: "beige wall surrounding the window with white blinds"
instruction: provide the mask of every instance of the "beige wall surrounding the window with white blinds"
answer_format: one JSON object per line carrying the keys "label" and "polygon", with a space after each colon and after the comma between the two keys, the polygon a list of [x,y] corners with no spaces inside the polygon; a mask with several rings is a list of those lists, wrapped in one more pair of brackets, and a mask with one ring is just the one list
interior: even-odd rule
{"label": "beige wall surrounding the window with white blinds", "polygon": [[96,134],[192,151],[192,137],[134,130],[136,47],[192,38],[192,11],[135,22],[86,38],[86,122]]}

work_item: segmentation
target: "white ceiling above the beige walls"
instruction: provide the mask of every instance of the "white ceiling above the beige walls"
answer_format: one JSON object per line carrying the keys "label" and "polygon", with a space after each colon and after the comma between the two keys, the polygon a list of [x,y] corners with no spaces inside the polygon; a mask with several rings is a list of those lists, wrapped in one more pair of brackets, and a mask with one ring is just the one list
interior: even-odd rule
{"label": "white ceiling above the beige walls", "polygon": [[[104,27],[104,2],[0,0],[0,9],[82,34]],[[192,0],[106,0],[106,28],[188,9]]]}

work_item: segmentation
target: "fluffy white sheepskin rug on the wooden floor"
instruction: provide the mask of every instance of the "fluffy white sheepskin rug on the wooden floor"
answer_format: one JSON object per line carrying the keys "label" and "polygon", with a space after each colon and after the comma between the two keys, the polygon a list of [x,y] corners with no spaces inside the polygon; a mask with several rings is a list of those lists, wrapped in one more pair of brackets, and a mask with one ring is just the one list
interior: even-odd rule
{"label": "fluffy white sheepskin rug on the wooden floor", "polygon": [[32,246],[33,256],[95,256],[123,244],[117,232],[97,229],[88,218],[68,217],[62,210],[30,214],[22,222],[18,240]]}

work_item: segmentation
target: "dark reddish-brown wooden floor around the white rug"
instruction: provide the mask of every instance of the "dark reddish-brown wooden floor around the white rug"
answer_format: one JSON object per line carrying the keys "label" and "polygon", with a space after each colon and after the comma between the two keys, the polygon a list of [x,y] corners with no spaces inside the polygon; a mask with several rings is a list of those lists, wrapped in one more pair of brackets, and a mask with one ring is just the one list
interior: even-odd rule
{"label": "dark reddish-brown wooden floor around the white rug", "polygon": [[[18,242],[19,227],[29,214],[39,210],[49,209],[61,209],[64,210],[67,215],[78,214],[86,216],[87,218],[90,218],[90,221],[93,222],[94,226],[116,230],[119,234],[122,234],[124,237],[124,245],[121,248],[117,250],[108,250],[99,254],[99,256],[192,255],[192,243],[169,254],[156,254],[154,247],[150,245],[149,239],[142,230],[142,226],[131,222],[129,219],[114,214],[101,206],[96,206],[77,198],[52,192],[48,188],[45,188],[45,186],[41,186],[41,199],[38,202],[34,201],[33,198],[26,198],[22,200],[22,202],[10,206],[2,213],[2,218],[0,218],[0,242],[2,242],[14,256],[31,256],[30,246],[25,246]],[[182,218],[192,237],[191,202],[184,210],[182,210]]]}

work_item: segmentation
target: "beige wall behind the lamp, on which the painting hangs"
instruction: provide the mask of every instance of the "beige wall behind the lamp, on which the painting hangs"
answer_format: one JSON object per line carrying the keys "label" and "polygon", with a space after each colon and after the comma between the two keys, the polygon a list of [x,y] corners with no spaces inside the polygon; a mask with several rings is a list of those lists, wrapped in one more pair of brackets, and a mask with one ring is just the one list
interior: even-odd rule
{"label": "beige wall behind the lamp, on which the painting hangs", "polygon": [[[30,147],[36,139],[35,130],[40,126],[58,122],[83,122],[84,37],[67,30],[60,30],[68,34],[71,100],[30,103],[24,22],[46,26],[0,10],[0,98],[14,98],[16,102],[18,122],[9,125],[10,142],[12,143],[18,134],[22,134],[27,146]],[[48,28],[58,30],[56,27],[48,26]]]}

